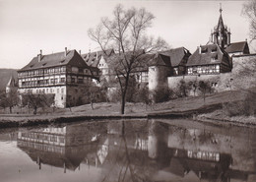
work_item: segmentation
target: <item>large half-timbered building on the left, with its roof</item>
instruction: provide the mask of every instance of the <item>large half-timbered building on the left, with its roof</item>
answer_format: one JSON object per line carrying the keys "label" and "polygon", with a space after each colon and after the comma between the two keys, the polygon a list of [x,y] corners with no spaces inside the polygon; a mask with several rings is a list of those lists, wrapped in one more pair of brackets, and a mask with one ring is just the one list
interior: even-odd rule
{"label": "large half-timbered building on the left, with its roof", "polygon": [[92,72],[76,50],[42,55],[18,71],[19,94],[54,94],[54,105],[66,107],[83,101]]}

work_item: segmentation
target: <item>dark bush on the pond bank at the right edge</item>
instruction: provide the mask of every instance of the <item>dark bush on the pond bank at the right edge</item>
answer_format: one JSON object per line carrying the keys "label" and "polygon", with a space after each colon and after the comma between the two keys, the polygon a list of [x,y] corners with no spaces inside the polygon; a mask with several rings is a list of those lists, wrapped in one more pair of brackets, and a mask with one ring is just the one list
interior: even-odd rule
{"label": "dark bush on the pond bank at the right edge", "polygon": [[224,104],[224,113],[227,116],[256,115],[256,93],[248,92],[242,101]]}

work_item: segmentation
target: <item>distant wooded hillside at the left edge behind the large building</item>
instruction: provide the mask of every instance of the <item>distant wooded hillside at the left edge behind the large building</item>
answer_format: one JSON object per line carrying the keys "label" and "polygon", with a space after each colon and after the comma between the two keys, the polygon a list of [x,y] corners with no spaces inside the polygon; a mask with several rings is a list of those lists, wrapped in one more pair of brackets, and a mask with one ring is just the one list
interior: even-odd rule
{"label": "distant wooded hillside at the left edge behind the large building", "polygon": [[0,69],[0,91],[5,91],[5,87],[12,75],[17,80],[16,69]]}

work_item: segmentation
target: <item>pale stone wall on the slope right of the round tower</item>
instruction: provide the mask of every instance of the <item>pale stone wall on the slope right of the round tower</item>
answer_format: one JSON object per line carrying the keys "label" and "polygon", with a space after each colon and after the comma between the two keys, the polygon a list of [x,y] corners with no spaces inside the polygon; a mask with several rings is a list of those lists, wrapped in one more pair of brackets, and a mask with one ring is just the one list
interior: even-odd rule
{"label": "pale stone wall on the slope right of the round tower", "polygon": [[210,82],[215,91],[242,90],[256,87],[256,55],[239,55],[232,58],[231,72],[217,75],[186,75],[168,77],[168,88],[175,89],[181,80]]}

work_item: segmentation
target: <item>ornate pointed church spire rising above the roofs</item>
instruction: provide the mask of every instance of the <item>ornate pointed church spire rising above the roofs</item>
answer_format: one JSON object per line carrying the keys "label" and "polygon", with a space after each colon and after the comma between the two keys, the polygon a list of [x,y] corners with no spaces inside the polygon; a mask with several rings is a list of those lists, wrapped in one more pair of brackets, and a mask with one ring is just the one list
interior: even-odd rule
{"label": "ornate pointed church spire rising above the roofs", "polygon": [[211,33],[212,42],[218,44],[223,49],[230,44],[230,30],[227,30],[227,27],[224,26],[224,20],[222,15],[223,9],[220,7],[220,18],[218,25],[214,28],[214,31]]}

